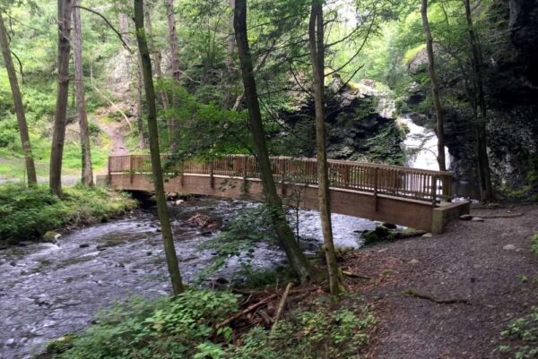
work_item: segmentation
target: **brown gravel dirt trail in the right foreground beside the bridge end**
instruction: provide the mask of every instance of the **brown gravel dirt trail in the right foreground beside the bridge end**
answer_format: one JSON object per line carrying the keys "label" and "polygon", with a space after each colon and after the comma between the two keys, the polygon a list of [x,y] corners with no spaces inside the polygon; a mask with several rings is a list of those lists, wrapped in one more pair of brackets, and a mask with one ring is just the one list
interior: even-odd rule
{"label": "brown gravel dirt trail in the right foreground beside the bridge end", "polygon": [[[369,357],[503,357],[491,340],[499,339],[509,321],[538,307],[538,257],[530,241],[538,231],[538,206],[516,211],[525,216],[456,220],[442,235],[352,253],[344,267],[372,279],[351,292],[372,303],[380,320]],[[475,215],[506,212],[473,210]],[[467,303],[434,303],[406,294],[409,289]]]}

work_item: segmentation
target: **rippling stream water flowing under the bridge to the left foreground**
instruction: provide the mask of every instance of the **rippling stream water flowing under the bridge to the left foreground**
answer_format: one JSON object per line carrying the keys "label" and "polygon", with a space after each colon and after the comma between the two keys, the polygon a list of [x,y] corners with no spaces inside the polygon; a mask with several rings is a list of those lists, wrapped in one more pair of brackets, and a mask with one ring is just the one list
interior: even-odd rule
{"label": "rippling stream water flowing under the bridge to the left foreground", "polygon": [[[170,208],[184,280],[194,278],[215,254],[198,249],[215,234],[188,227],[187,218],[204,213],[225,222],[238,209],[252,206],[246,201],[196,198]],[[313,251],[321,241],[318,214],[300,210],[299,218],[300,236],[310,239]],[[334,215],[333,223],[339,246],[357,246],[356,232],[376,226],[367,219],[343,215]],[[278,248],[260,244],[253,266],[273,267],[284,261]],[[230,278],[238,271],[238,262],[232,261],[218,276]],[[152,210],[75,230],[60,237],[57,244],[0,251],[0,358],[38,354],[48,340],[90,325],[100,308],[117,299],[168,294],[161,233]]]}

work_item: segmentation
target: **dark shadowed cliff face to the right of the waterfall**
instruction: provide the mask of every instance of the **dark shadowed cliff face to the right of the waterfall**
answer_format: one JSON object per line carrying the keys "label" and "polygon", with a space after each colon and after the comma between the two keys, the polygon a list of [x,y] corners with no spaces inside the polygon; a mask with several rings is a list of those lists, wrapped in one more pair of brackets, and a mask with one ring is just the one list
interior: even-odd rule
{"label": "dark shadowed cliff face to the right of the waterfall", "polygon": [[[500,50],[484,54],[492,178],[498,192],[534,198],[538,195],[538,1],[499,0],[495,11],[502,27],[499,34],[507,34],[508,30],[509,35],[500,41]],[[425,66],[416,64],[421,62],[421,56],[412,61],[413,76],[426,71]],[[443,73],[443,77],[442,93],[451,98],[444,104],[446,145],[453,159],[450,169],[456,173],[456,183],[462,184],[456,192],[475,196],[473,117],[466,105],[464,79],[457,73]],[[415,86],[408,105],[426,115],[426,123],[433,126],[435,115],[420,109],[421,102],[429,96],[429,86]]]}

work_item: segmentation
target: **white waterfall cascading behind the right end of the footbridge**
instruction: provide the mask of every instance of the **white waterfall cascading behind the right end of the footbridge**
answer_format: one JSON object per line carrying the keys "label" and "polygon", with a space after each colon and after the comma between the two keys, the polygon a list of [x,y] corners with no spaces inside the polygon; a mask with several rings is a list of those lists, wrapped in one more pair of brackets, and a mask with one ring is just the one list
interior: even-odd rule
{"label": "white waterfall cascading behind the right end of the footbridge", "polygon": [[[438,170],[438,138],[433,130],[412,122],[409,115],[401,115],[396,120],[409,132],[405,135],[404,151],[407,154],[407,166],[421,169]],[[450,167],[450,154],[445,147],[447,168]]]}

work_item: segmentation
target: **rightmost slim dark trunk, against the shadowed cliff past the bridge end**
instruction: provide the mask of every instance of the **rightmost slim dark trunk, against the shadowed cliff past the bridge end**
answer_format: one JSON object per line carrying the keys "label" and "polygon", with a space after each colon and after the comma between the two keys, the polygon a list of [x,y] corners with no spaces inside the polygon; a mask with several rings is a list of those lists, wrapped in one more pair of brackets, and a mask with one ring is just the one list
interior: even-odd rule
{"label": "rightmost slim dark trunk, against the shadowed cliff past the bridge end", "polygon": [[469,32],[469,43],[472,51],[473,83],[475,90],[474,103],[478,104],[478,107],[480,108],[477,116],[478,118],[476,118],[476,123],[474,124],[474,131],[476,133],[476,158],[478,162],[477,172],[482,201],[490,201],[493,199],[493,192],[491,189],[490,159],[488,158],[486,138],[488,109],[486,107],[482,81],[482,49],[480,48],[479,40],[474,32],[470,0],[464,0],[464,4],[465,19],[467,21],[467,29]]}

